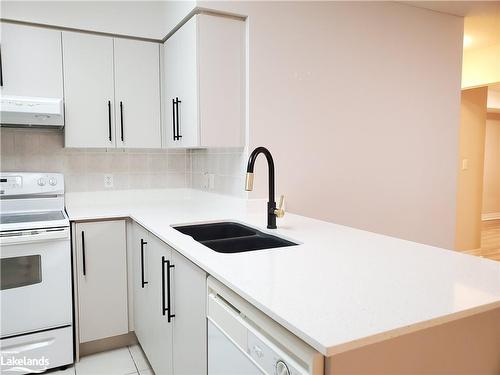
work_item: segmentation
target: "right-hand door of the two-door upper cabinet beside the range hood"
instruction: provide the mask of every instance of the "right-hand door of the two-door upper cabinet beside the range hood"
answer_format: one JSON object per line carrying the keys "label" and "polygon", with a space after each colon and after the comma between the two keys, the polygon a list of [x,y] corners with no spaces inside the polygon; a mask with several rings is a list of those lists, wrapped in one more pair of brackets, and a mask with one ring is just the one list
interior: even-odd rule
{"label": "right-hand door of the two-door upper cabinet beside the range hood", "polygon": [[114,39],[118,147],[161,147],[159,49],[157,43]]}

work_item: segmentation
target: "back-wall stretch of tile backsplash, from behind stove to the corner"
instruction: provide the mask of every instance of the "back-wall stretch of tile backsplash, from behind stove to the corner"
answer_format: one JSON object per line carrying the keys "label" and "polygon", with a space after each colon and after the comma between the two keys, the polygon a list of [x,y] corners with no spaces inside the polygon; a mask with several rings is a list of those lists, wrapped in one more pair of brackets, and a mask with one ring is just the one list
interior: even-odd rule
{"label": "back-wall stretch of tile backsplash, from behind stove to the corner", "polygon": [[0,169],[5,172],[64,173],[66,191],[113,188],[188,187],[190,163],[185,150],[64,148],[60,130],[0,128]]}

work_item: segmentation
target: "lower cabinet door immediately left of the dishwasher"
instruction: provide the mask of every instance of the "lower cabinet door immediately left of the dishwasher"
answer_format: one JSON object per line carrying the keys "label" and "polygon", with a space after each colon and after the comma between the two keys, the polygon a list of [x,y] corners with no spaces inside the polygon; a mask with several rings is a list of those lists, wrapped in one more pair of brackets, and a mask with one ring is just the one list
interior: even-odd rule
{"label": "lower cabinet door immediately left of the dishwasher", "polygon": [[174,374],[207,373],[207,275],[172,250]]}

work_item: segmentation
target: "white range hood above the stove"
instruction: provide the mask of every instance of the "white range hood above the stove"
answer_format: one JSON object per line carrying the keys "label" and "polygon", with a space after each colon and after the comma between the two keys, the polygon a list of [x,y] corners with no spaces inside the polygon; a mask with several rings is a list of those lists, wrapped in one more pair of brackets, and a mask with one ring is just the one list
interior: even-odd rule
{"label": "white range hood above the stove", "polygon": [[62,99],[2,95],[0,125],[10,127],[62,128]]}

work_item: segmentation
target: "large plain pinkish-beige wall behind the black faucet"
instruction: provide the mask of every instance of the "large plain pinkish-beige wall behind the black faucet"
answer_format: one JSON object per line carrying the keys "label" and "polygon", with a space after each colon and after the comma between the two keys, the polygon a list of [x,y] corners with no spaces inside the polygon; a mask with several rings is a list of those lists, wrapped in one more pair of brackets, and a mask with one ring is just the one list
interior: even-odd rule
{"label": "large plain pinkish-beige wall behind the black faucet", "polygon": [[453,248],[462,18],[383,2],[199,4],[249,16],[249,143],[273,153],[289,211]]}

